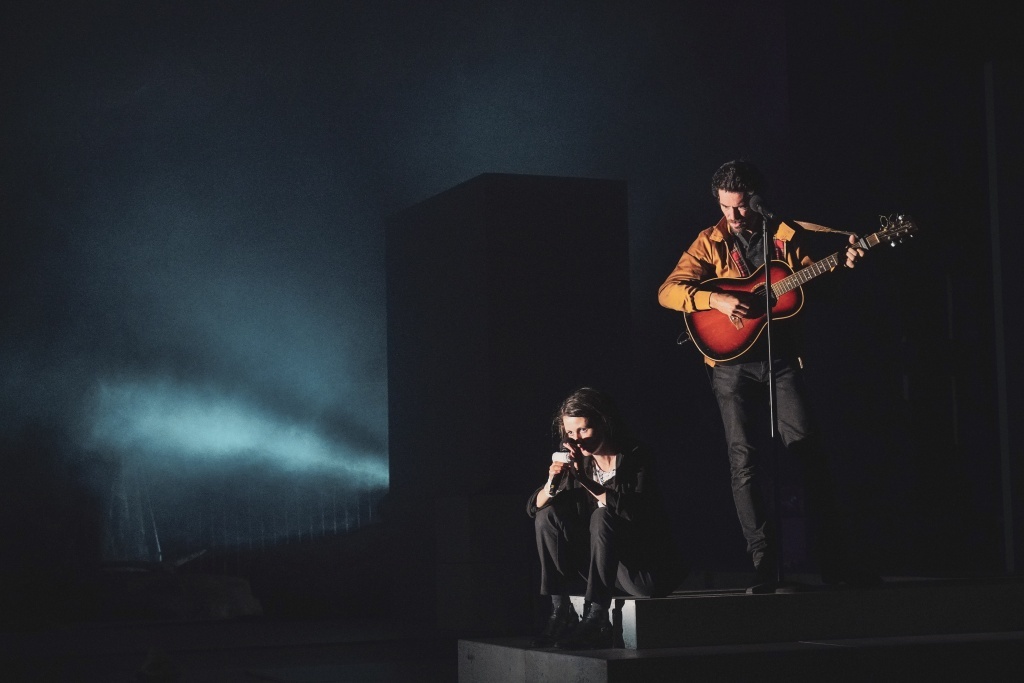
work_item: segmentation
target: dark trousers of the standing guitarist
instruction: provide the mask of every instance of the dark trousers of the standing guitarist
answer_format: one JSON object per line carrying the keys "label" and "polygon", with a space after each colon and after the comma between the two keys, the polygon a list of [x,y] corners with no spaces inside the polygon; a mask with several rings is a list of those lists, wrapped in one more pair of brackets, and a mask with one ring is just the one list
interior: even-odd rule
{"label": "dark trousers of the standing guitarist", "polygon": [[[776,433],[786,453],[796,458],[800,466],[810,546],[817,556],[819,568],[826,572],[839,562],[842,547],[831,477],[808,411],[799,366],[796,361],[776,359],[772,371]],[[770,443],[768,435],[771,434],[768,364],[715,366],[712,389],[725,426],[736,515],[746,540],[746,552],[755,565],[760,565],[762,558],[774,560],[777,551],[772,515],[765,509],[759,472],[763,462],[759,446]],[[775,474],[777,476],[778,472]]]}

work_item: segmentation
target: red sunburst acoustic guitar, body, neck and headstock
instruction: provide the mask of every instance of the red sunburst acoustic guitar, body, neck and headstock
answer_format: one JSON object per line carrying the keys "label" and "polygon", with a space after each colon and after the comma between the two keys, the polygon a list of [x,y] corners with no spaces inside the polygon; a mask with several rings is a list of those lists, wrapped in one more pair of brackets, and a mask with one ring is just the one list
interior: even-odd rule
{"label": "red sunburst acoustic guitar, body, neck and headstock", "polygon": [[[906,216],[883,217],[883,229],[857,240],[853,245],[858,249],[871,249],[881,244],[895,247],[904,238],[912,236],[918,226]],[[771,315],[773,321],[793,317],[804,306],[803,285],[820,274],[831,272],[846,262],[846,250],[811,263],[796,272],[785,261],[773,260],[769,263],[771,283]],[[750,292],[765,300],[764,265],[758,266],[746,278],[713,278],[700,284],[700,289],[713,292]],[[701,353],[715,361],[735,360],[751,350],[757,343],[768,323],[764,305],[752,309],[746,317],[729,317],[714,308],[683,313],[686,332]]]}

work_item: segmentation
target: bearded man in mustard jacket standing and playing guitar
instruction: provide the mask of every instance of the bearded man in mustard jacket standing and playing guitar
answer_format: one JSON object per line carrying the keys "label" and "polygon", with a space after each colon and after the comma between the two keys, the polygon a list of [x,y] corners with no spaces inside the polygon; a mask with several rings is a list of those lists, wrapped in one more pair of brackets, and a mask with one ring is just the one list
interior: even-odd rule
{"label": "bearded man in mustard jacket standing and playing guitar", "polygon": [[[690,338],[709,369],[725,426],[733,502],[757,574],[748,592],[778,588],[778,540],[758,476],[758,445],[768,430],[767,421],[760,418],[769,405],[769,379],[774,384],[777,433],[803,470],[810,537],[822,582],[877,583],[877,578],[854,571],[843,556],[833,484],[807,407],[798,340],[793,330],[774,325],[776,318],[799,311],[803,298],[797,285],[802,270],[808,269],[809,278],[836,267],[852,268],[873,245],[851,234],[844,252],[815,262],[801,244],[806,224],[792,226],[767,218],[770,212],[760,205],[763,186],[760,171],[745,161],[730,161],[715,172],[712,194],[722,219],[697,234],[658,288],[657,299],[666,308],[686,314]],[[765,325],[765,223],[774,230],[769,265],[775,303],[769,326]],[[776,289],[776,280],[784,276],[798,283],[788,290]],[[771,331],[770,367],[766,327]]]}

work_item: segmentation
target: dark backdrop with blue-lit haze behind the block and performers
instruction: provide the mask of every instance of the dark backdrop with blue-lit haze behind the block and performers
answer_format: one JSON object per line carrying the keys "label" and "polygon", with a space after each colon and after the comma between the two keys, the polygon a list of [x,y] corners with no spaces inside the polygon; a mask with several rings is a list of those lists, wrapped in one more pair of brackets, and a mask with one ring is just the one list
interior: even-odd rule
{"label": "dark backdrop with blue-lit haze behind the block and performers", "polygon": [[[815,408],[869,564],[1005,571],[996,380],[1018,366],[997,365],[993,299],[1016,299],[993,290],[990,152],[1009,196],[1019,13],[18,3],[0,48],[5,588],[213,547],[295,562],[317,539],[373,529],[387,487],[384,224],[494,172],[627,181],[621,402],[662,456],[697,565],[745,567],[702,365],[655,299],[717,220],[712,172],[737,157],[795,218],[920,225],[809,287]],[[1007,117],[994,144],[986,65]],[[1020,253],[1017,216],[1000,225],[1002,253]],[[995,268],[1007,282],[1010,264]],[[539,480],[546,455],[524,460]]]}

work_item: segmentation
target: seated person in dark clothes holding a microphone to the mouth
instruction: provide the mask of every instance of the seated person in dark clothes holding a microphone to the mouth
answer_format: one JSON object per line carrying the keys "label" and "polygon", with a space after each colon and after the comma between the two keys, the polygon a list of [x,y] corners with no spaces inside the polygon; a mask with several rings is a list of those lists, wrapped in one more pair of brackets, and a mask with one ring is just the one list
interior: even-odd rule
{"label": "seated person in dark clothes holding a microphone to the mouth", "polygon": [[[534,645],[611,647],[608,608],[615,592],[660,597],[685,579],[657,488],[653,458],[638,443],[612,399],[574,391],[552,429],[568,462],[552,462],[548,481],[530,496],[541,559],[541,595],[551,615]],[[581,620],[569,594],[584,592]]]}

